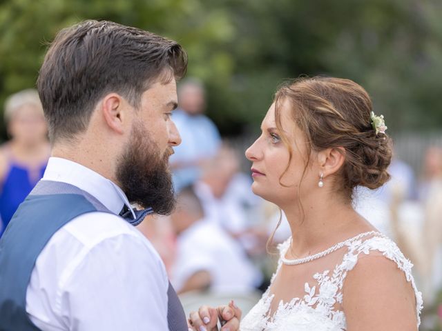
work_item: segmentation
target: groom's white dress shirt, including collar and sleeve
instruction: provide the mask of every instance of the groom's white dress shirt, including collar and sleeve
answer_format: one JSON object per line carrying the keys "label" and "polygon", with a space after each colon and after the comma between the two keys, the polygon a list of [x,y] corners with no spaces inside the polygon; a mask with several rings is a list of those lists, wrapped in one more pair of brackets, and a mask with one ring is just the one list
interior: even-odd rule
{"label": "groom's white dress shirt, including collar and sleeve", "polygon": [[128,205],[122,190],[55,157],[41,180],[75,185],[115,215],[82,214],[51,237],[26,292],[32,323],[43,331],[168,330],[166,269],[141,232],[117,216]]}

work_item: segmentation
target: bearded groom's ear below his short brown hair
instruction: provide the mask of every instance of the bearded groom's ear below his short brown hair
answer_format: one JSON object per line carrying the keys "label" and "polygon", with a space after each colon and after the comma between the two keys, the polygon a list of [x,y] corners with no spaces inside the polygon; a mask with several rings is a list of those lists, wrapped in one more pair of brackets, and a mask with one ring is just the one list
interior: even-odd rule
{"label": "bearded groom's ear below his short brown hair", "polygon": [[108,128],[123,134],[128,121],[127,101],[117,93],[110,93],[102,99],[99,107]]}

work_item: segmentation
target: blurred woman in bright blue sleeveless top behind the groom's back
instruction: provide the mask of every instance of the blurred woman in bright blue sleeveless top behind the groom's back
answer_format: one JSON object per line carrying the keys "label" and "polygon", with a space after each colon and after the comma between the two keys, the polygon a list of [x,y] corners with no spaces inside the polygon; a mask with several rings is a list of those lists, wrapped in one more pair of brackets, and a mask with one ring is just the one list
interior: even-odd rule
{"label": "blurred woman in bright blue sleeveless top behind the groom's back", "polygon": [[19,204],[43,177],[50,154],[36,90],[23,90],[6,99],[4,119],[10,140],[0,148],[0,236]]}

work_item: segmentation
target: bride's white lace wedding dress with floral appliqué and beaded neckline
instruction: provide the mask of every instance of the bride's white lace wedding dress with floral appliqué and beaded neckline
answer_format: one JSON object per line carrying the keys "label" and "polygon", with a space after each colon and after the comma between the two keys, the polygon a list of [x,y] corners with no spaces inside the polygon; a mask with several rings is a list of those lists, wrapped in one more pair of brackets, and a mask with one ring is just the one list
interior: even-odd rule
{"label": "bride's white lace wedding dress with floral appliqu\u00e9 and beaded neckline", "polygon": [[[282,266],[282,257],[289,248],[290,239],[279,245],[280,259],[278,268],[273,274],[271,283]],[[347,272],[352,270],[363,254],[383,255],[394,261],[398,268],[405,273],[416,294],[416,312],[422,309],[422,295],[418,292],[412,277],[412,263],[405,259],[396,243],[382,234],[370,234],[368,237],[349,239],[342,248],[325,257],[305,263],[309,277],[305,279],[304,288],[294,289],[291,301],[273,305],[269,314],[274,295],[270,293],[271,286],[262,295],[260,301],[242,319],[240,331],[340,331],[347,330],[343,312],[343,285]],[[309,272],[311,271],[311,273]],[[287,284],[287,291],[293,286]]]}

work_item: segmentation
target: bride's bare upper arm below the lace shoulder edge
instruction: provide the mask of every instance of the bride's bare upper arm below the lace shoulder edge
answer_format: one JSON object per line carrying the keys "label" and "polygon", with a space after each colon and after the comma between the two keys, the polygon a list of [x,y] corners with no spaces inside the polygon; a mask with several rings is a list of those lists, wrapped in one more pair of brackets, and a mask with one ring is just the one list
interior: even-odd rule
{"label": "bride's bare upper arm below the lace shoulder edge", "polygon": [[394,261],[382,255],[360,257],[343,286],[347,331],[416,331],[412,284]]}

